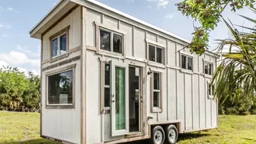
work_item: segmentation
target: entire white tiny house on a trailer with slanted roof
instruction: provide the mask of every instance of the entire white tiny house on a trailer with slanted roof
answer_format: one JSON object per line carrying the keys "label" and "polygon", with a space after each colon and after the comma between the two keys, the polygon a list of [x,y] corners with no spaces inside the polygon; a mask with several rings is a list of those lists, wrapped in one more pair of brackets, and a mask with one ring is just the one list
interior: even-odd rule
{"label": "entire white tiny house on a trailer with slanted roof", "polygon": [[94,0],[61,0],[30,30],[41,40],[40,136],[62,143],[149,139],[217,127],[216,57]]}

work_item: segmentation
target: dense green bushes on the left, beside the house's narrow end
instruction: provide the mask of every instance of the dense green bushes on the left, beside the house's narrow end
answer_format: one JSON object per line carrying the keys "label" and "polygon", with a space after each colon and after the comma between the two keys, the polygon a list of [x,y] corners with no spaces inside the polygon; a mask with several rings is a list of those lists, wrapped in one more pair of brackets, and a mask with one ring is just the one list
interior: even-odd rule
{"label": "dense green bushes on the left, beside the house's narrow end", "polygon": [[38,111],[40,77],[17,68],[0,69],[0,110]]}

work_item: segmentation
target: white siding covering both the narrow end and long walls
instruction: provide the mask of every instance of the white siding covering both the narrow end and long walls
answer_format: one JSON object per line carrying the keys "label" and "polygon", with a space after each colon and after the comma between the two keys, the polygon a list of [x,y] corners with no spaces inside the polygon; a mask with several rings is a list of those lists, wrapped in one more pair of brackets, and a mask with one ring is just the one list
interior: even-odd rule
{"label": "white siding covering both the narrow end and long walls", "polygon": [[[88,144],[109,142],[124,139],[124,136],[110,136],[110,114],[101,114],[101,59],[118,60],[104,53],[95,53],[96,26],[102,24],[111,30],[125,32],[125,61],[136,62],[143,70],[142,90],[145,94],[146,123],[143,130],[149,136],[148,123],[160,123],[173,120],[181,121],[181,133],[196,130],[206,130],[217,126],[216,100],[208,98],[207,82],[210,76],[203,74],[203,60],[213,62],[216,69],[216,59],[213,54],[206,52],[202,56],[190,54],[189,49],[183,49],[186,40],[165,33],[158,28],[146,25],[141,21],[130,18],[125,14],[111,8],[102,7],[98,2],[72,0],[82,5],[75,8],[66,18],[59,21],[55,27],[43,35],[42,40],[42,69],[53,66],[58,62],[81,56],[81,51],[76,50],[84,43],[86,48],[86,142]],[[84,7],[83,13],[81,8]],[[85,18],[82,18],[85,16]],[[83,21],[82,21],[83,20]],[[81,25],[85,24],[85,25]],[[50,39],[53,34],[69,26],[69,53],[68,57],[51,61]],[[85,28],[85,30],[82,29]],[[83,30],[83,31],[82,31]],[[85,37],[82,37],[82,32]],[[83,41],[81,41],[83,40]],[[150,64],[147,60],[147,42],[162,46],[165,50],[165,65]],[[82,47],[80,47],[82,48]],[[181,69],[181,53],[193,56],[193,71]],[[104,56],[103,56],[104,55]],[[47,85],[46,75],[70,65],[75,66],[75,108],[50,109],[46,108]],[[42,136],[62,139],[66,142],[81,143],[81,60],[75,60],[62,66],[52,67],[42,71]],[[152,113],[151,110],[151,85],[149,69],[161,72],[162,79],[162,112]],[[147,117],[152,117],[148,120]]]}

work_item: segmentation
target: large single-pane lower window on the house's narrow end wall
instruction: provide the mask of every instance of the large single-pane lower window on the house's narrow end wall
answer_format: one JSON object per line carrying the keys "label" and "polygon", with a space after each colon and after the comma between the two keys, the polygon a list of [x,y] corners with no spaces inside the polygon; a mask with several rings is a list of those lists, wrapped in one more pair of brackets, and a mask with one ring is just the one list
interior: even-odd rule
{"label": "large single-pane lower window on the house's narrow end wall", "polygon": [[73,104],[73,70],[48,76],[49,105]]}

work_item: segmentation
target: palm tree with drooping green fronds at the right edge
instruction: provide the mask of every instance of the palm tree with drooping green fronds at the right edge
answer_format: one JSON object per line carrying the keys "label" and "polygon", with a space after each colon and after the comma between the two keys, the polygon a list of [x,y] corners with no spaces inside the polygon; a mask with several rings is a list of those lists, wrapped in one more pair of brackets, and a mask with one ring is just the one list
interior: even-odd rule
{"label": "palm tree with drooping green fronds at the right edge", "polygon": [[[256,13],[256,9],[251,11]],[[256,20],[240,15],[248,21],[256,24]],[[226,98],[254,98],[256,91],[256,29],[254,27],[243,27],[250,32],[241,32],[234,27],[231,21],[226,21],[232,38],[218,40],[216,54],[221,56],[220,64],[213,75],[212,85],[215,84],[215,97],[221,101]],[[225,47],[229,52],[222,54]],[[232,50],[234,50],[233,52]]]}

